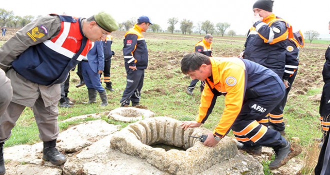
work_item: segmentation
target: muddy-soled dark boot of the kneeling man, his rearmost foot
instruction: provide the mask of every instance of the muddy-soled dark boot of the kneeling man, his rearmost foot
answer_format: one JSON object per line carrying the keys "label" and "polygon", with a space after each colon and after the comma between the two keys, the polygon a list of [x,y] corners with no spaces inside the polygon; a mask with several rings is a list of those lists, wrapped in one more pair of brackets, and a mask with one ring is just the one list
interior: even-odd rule
{"label": "muddy-soled dark boot of the kneeling man, his rearmost foot", "polygon": [[285,145],[280,145],[274,147],[275,151],[275,159],[269,163],[269,169],[277,169],[284,165],[291,157],[289,157],[289,153],[291,152],[291,145],[288,141],[286,141]]}

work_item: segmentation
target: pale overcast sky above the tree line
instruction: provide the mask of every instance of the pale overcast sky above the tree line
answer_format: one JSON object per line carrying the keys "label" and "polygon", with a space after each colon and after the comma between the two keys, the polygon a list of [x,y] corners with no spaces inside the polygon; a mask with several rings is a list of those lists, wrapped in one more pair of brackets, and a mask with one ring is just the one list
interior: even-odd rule
{"label": "pale overcast sky above the tree line", "polygon": [[[0,8],[15,15],[45,15],[49,13],[89,17],[104,10],[119,23],[140,15],[167,29],[167,19],[177,17],[198,21],[230,23],[237,34],[245,34],[252,25],[252,5],[256,0],[1,0]],[[330,36],[330,0],[274,0],[273,12],[287,20],[293,31],[316,30],[320,36]],[[178,23],[179,23],[178,22]],[[179,29],[179,25],[175,26]]]}

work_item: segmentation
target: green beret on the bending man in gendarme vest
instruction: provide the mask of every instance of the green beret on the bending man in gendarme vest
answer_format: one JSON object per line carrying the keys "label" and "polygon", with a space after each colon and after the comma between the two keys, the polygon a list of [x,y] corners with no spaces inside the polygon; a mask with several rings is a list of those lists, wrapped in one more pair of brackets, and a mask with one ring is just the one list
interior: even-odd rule
{"label": "green beret on the bending man in gendarme vest", "polygon": [[118,23],[114,20],[114,18],[104,11],[95,14],[94,18],[97,25],[99,25],[105,31],[112,32],[117,30],[119,27]]}

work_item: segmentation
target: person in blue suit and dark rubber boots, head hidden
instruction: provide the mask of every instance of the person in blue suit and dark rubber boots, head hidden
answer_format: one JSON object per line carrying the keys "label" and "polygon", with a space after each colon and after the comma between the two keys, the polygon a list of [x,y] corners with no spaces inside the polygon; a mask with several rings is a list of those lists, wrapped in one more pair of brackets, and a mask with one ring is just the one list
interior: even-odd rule
{"label": "person in blue suit and dark rubber boots, head hidden", "polygon": [[81,60],[81,73],[88,89],[87,104],[96,102],[96,91],[102,100],[101,106],[106,106],[106,91],[99,81],[99,76],[104,69],[104,54],[102,41],[92,43],[92,48],[88,51],[87,56]]}

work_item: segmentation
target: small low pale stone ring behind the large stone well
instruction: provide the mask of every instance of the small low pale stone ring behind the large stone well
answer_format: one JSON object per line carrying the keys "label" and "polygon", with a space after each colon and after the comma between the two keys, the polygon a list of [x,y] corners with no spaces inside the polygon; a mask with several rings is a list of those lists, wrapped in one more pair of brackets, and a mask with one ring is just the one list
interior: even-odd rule
{"label": "small low pale stone ring behind the large stone well", "polygon": [[154,113],[150,110],[136,107],[118,107],[111,110],[107,115],[108,118],[124,122],[137,121],[153,116]]}

